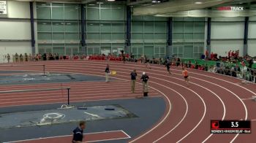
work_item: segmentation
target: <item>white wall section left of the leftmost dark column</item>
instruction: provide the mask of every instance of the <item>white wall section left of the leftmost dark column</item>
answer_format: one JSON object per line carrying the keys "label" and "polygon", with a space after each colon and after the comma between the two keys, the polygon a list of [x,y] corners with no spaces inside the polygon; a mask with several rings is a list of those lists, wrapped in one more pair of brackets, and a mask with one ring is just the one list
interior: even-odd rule
{"label": "white wall section left of the leftmost dark column", "polygon": [[[7,1],[7,17],[0,18],[0,39],[4,40],[26,40],[21,42],[0,42],[0,62],[3,55],[10,53],[31,53],[31,29],[29,2]],[[26,18],[14,20],[12,18]]]}

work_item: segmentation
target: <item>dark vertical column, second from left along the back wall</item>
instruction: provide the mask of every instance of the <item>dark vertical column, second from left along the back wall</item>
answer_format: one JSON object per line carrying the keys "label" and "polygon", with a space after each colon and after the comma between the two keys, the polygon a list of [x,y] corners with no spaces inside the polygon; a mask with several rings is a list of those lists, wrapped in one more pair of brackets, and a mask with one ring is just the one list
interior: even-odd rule
{"label": "dark vertical column, second from left along the back wall", "polygon": [[87,55],[86,53],[86,28],[85,28],[85,23],[86,23],[86,15],[85,15],[85,9],[84,9],[84,4],[81,5],[81,34],[82,34],[82,39],[81,39],[81,45],[82,45],[82,53]]}

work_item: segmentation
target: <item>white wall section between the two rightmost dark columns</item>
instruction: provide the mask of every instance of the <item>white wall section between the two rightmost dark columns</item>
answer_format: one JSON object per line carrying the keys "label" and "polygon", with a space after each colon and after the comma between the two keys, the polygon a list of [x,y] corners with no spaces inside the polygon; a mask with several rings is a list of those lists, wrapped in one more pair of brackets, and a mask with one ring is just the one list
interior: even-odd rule
{"label": "white wall section between the two rightmost dark columns", "polygon": [[[235,22],[236,21],[236,22]],[[227,56],[229,50],[239,50],[243,55],[244,18],[212,18],[211,51]]]}

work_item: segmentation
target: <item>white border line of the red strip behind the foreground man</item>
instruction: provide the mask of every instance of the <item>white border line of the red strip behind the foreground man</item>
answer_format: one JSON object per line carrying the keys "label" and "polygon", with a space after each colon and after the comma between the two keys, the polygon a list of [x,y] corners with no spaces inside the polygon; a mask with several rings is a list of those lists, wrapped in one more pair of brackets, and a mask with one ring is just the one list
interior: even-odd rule
{"label": "white border line of the red strip behind the foreground man", "polygon": [[[98,139],[98,140],[89,140],[89,141],[85,141],[85,142],[83,142],[83,143],[86,143],[86,142],[102,142],[102,141],[111,141],[111,140],[117,140],[117,139],[130,139],[131,138],[131,136],[129,136],[125,131],[123,131],[123,130],[116,130],[116,131],[99,131],[99,132],[94,132],[94,133],[86,133],[86,134],[84,134],[84,135],[93,135],[93,136],[95,136],[95,134],[99,134],[99,136],[100,136],[100,134],[113,134],[113,133],[115,133],[116,134],[116,132],[121,132],[121,134],[122,135],[124,135],[124,136],[122,136],[122,137],[110,137],[110,139]],[[49,136],[49,137],[42,137],[42,138],[37,138],[37,139],[23,139],[23,140],[18,140],[18,141],[12,141],[12,142],[4,142],[4,143],[18,143],[18,142],[30,142],[30,141],[38,141],[38,142],[40,142],[40,140],[42,140],[42,139],[56,139],[56,138],[64,138],[64,137],[72,137],[72,135],[64,135],[64,136]],[[71,138],[70,138],[71,139]],[[88,139],[88,137],[86,137],[86,139]],[[69,142],[69,141],[67,141],[67,142]],[[70,142],[71,142],[71,140],[70,140]]]}

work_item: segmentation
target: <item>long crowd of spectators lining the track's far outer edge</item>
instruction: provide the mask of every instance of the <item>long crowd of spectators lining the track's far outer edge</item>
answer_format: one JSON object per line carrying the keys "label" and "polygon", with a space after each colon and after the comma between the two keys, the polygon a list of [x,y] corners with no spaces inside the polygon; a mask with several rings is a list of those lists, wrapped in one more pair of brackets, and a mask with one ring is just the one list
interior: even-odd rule
{"label": "long crowd of spectators lining the track's far outer edge", "polygon": [[[23,62],[23,61],[48,61],[48,60],[102,60],[102,61],[130,61],[130,62],[139,62],[147,63],[146,66],[149,66],[149,63],[162,64],[167,67],[167,71],[170,73],[170,66],[184,66],[189,69],[198,69],[203,71],[209,71],[219,74],[225,74],[232,77],[246,78],[247,80],[254,80],[255,78],[255,69],[252,69],[252,64],[254,59],[249,55],[244,57],[239,57],[239,50],[229,51],[227,57],[217,58],[217,54],[211,53],[211,56],[208,55],[206,50],[205,60],[209,61],[219,61],[215,66],[208,66],[207,64],[200,65],[197,62],[192,63],[191,61],[183,62],[181,58],[171,57],[171,58],[147,58],[146,55],[141,55],[140,58],[135,58],[135,55],[132,53],[124,54],[124,51],[121,51],[119,55],[112,54],[98,54],[98,55],[59,55],[58,53],[44,53],[31,55],[25,53],[13,55],[13,62]],[[10,62],[10,54],[5,55],[7,61]],[[229,64],[235,63],[235,64]],[[241,66],[240,66],[241,63]],[[246,63],[247,66],[246,66]],[[246,75],[245,75],[246,73]],[[170,73],[171,74],[171,73]]]}

